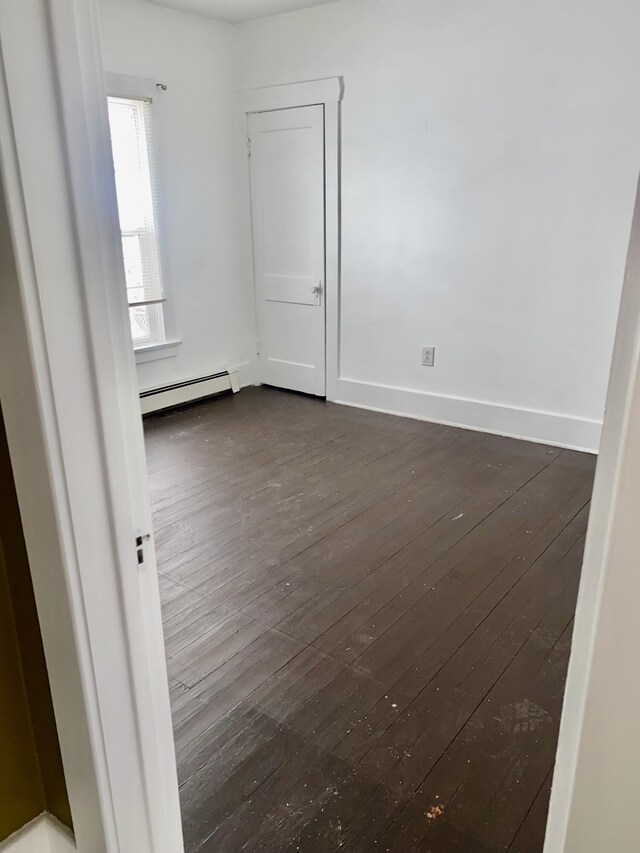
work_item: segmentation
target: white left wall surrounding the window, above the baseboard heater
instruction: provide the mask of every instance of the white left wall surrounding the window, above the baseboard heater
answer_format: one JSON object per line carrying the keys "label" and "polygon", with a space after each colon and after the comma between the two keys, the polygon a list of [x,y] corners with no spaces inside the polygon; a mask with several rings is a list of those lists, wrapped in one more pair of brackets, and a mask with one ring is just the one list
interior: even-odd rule
{"label": "white left wall surrounding the window, above the baseboard heater", "polygon": [[[177,355],[138,365],[141,388],[245,364],[253,291],[240,236],[233,30],[137,0],[101,0],[105,69],[167,85],[154,103],[169,333]],[[244,371],[243,376],[247,374]]]}

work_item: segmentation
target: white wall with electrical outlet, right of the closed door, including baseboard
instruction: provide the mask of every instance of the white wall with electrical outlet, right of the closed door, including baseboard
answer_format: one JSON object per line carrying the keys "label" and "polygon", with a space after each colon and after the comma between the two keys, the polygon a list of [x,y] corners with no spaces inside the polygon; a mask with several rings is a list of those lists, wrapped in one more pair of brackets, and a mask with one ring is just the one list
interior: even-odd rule
{"label": "white wall with electrical outlet, right of the closed door, including baseboard", "polygon": [[597,445],[638,26],[635,0],[342,0],[235,28],[239,88],[344,76],[339,398]]}

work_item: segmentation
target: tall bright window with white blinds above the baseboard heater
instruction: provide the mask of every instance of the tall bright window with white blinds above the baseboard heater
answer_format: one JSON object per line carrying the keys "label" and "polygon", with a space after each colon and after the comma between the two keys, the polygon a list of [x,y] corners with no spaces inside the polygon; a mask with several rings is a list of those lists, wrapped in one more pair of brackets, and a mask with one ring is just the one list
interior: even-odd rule
{"label": "tall bright window with white blinds above the baseboard heater", "polygon": [[109,97],[125,282],[134,347],[165,340],[154,211],[150,99]]}

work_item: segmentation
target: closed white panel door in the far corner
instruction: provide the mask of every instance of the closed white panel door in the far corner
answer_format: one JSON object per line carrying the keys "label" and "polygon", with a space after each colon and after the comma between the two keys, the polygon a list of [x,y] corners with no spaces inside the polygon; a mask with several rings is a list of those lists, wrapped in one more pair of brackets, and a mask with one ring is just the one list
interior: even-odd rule
{"label": "closed white panel door in the far corner", "polygon": [[258,379],[325,394],[324,108],[249,116]]}

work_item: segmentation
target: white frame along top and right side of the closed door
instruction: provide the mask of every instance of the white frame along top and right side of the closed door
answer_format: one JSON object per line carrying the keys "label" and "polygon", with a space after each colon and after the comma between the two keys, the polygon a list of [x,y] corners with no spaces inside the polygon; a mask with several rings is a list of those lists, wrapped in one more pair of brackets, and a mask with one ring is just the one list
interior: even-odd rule
{"label": "white frame along top and right side of the closed door", "polygon": [[[325,384],[335,400],[340,371],[340,103],[342,77],[285,83],[241,93],[246,137],[247,115],[293,107],[324,107],[325,186]],[[247,187],[249,171],[247,168]],[[255,288],[255,275],[254,275]]]}

